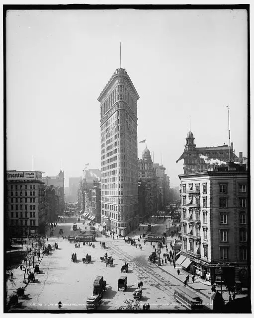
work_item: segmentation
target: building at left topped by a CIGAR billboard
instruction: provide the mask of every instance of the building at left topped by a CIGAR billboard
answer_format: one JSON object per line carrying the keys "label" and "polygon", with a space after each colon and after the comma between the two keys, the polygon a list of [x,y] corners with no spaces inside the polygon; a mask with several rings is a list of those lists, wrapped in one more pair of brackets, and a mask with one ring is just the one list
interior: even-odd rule
{"label": "building at left topped by a CIGAR billboard", "polygon": [[9,170],[6,187],[8,234],[11,237],[44,234],[47,216],[42,172]]}

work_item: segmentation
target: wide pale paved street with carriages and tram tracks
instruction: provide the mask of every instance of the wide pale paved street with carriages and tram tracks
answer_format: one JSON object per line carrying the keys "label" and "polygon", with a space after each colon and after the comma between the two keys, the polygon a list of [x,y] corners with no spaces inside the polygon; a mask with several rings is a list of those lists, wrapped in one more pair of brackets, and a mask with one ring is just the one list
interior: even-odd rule
{"label": "wide pale paved street with carriages and tram tracks", "polygon": [[[77,218],[75,219],[75,221]],[[65,223],[58,224],[54,236],[57,236],[59,229],[64,229],[64,236],[74,235],[71,231],[73,219],[66,219]],[[77,222],[76,222],[77,223]],[[78,229],[85,229],[87,224],[83,225],[83,220],[78,224]],[[163,226],[165,223],[163,224]],[[147,230],[146,225],[140,226],[140,231],[136,231],[136,238]],[[159,224],[153,226],[152,230]],[[97,228],[97,225],[96,225]],[[101,229],[101,228],[100,228]],[[77,232],[77,231],[75,231]],[[157,231],[155,231],[157,232]],[[62,310],[85,310],[86,298],[92,294],[93,280],[95,276],[103,276],[107,282],[107,289],[103,296],[103,303],[98,310],[116,310],[126,299],[133,299],[132,292],[137,288],[137,283],[143,281],[143,303],[149,302],[151,310],[184,310],[180,304],[174,300],[174,286],[183,286],[183,280],[187,273],[180,270],[180,275],[176,273],[170,264],[164,264],[159,267],[148,261],[148,256],[153,251],[150,243],[144,244],[141,239],[142,250],[125,243],[121,239],[105,238],[97,232],[99,238],[95,242],[95,248],[88,245],[82,245],[75,248],[73,243],[60,237],[51,237],[48,243],[58,242],[59,249],[53,250],[49,256],[44,256],[40,264],[40,274],[36,274],[36,281],[29,283],[25,289],[26,300],[21,300],[23,310],[58,310],[57,303],[62,301]],[[78,232],[75,234],[75,236]],[[134,237],[133,233],[130,237]],[[171,238],[170,238],[171,239]],[[106,243],[106,249],[101,248],[100,242]],[[78,262],[71,261],[71,254],[77,253]],[[100,257],[107,252],[108,256],[112,255],[114,259],[113,267],[106,267],[106,263],[100,261]],[[83,264],[82,258],[85,254],[91,255],[91,263]],[[121,266],[129,263],[129,273],[121,273]],[[7,282],[8,293],[19,286],[24,286],[23,271],[16,269],[13,271],[13,282]],[[118,278],[122,275],[127,276],[128,288],[126,292],[117,291]],[[209,304],[209,294],[211,286],[207,286],[196,281],[194,284],[189,283],[190,288],[200,293],[203,302]],[[189,288],[189,287],[187,287]],[[209,307],[209,305],[207,306]]]}

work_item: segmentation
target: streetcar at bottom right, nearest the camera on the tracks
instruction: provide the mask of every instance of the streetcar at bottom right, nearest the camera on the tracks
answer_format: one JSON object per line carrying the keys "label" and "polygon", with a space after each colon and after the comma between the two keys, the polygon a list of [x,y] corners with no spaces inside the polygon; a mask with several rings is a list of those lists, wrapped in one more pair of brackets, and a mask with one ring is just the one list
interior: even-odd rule
{"label": "streetcar at bottom right, nearest the camera on the tracks", "polygon": [[186,287],[175,286],[174,298],[187,309],[203,309],[202,299]]}

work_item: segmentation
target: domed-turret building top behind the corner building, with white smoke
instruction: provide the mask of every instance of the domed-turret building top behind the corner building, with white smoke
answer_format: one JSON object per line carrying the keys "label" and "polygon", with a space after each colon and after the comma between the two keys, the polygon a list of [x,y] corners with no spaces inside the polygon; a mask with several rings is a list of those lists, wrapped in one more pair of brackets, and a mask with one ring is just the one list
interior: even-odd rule
{"label": "domed-turret building top behind the corner building, with white smoke", "polygon": [[[238,157],[234,154],[233,143],[230,147],[231,161],[238,161]],[[200,156],[205,156],[201,158]],[[229,161],[229,146],[223,145],[218,147],[196,147],[195,138],[191,131],[186,137],[184,152],[176,163],[183,159],[184,173],[207,171],[215,165],[226,164]]]}

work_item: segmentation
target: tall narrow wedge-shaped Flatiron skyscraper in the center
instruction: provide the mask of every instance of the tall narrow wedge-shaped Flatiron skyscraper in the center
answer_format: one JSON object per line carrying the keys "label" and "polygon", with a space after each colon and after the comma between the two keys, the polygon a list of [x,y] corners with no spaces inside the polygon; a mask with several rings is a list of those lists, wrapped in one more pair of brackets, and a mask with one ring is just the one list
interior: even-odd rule
{"label": "tall narrow wedge-shaped Flatiron skyscraper in the center", "polygon": [[101,131],[101,223],[122,236],[138,224],[137,100],[125,69],[98,97]]}

